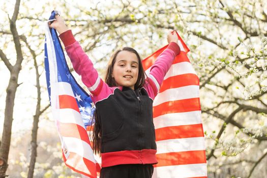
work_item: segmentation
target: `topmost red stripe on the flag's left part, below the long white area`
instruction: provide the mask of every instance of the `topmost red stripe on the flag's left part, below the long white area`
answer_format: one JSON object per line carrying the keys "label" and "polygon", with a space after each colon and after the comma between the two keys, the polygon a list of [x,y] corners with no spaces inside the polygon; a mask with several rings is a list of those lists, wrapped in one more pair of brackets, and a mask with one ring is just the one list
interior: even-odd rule
{"label": "topmost red stripe on the flag's left part, below the long white area", "polygon": [[65,109],[65,108],[69,108],[69,109],[74,109],[77,112],[80,112],[76,99],[70,95],[60,95],[58,96],[59,98],[59,102],[60,102],[60,108],[61,109]]}

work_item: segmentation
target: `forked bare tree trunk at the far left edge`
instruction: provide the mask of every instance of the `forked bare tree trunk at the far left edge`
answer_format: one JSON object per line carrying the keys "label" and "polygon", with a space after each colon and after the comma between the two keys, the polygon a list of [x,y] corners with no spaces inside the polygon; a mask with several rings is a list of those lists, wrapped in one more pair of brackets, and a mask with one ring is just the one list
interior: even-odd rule
{"label": "forked bare tree trunk at the far left edge", "polygon": [[21,63],[23,61],[21,44],[19,41],[19,35],[16,28],[16,20],[19,12],[19,5],[20,1],[17,0],[13,16],[11,19],[9,19],[10,31],[13,37],[17,54],[16,64],[12,66],[5,53],[2,50],[0,50],[0,57],[2,58],[3,62],[10,71],[10,79],[7,87],[7,96],[6,96],[4,129],[0,146],[0,178],[7,176],[6,171],[8,168],[8,155],[9,155],[10,141],[11,141],[14,101],[18,87],[18,74],[21,70]]}

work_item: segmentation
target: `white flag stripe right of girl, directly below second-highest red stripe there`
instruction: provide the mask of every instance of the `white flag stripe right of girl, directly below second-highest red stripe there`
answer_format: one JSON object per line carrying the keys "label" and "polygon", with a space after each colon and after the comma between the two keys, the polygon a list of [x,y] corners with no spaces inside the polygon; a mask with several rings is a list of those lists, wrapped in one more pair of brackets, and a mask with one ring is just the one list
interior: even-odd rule
{"label": "white flag stripe right of girl, directly below second-highest red stripe there", "polygon": [[154,99],[153,106],[157,106],[167,101],[184,100],[190,98],[199,98],[198,85],[188,85],[177,88],[170,88],[159,93]]}

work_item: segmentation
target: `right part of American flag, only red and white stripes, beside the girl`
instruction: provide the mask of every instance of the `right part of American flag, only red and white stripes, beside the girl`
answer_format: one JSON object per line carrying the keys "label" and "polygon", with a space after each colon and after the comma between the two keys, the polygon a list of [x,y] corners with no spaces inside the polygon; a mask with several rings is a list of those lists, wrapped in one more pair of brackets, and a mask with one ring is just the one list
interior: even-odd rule
{"label": "right part of American flag, only red and white stripes, beside the girl", "polygon": [[[175,57],[153,102],[158,160],[153,178],[204,178],[207,177],[207,169],[199,78],[187,57],[188,47],[177,36],[181,53]],[[142,61],[147,74],[157,56],[166,48],[159,49]]]}

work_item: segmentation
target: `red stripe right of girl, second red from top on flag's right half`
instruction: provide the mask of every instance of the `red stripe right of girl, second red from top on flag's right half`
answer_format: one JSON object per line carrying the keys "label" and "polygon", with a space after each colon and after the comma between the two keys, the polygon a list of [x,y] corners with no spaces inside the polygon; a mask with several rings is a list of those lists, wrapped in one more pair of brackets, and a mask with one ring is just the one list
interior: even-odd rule
{"label": "red stripe right of girl, second red from top on flag's right half", "polygon": [[195,74],[176,75],[163,80],[160,93],[170,88],[177,88],[188,85],[199,85],[199,79]]}

